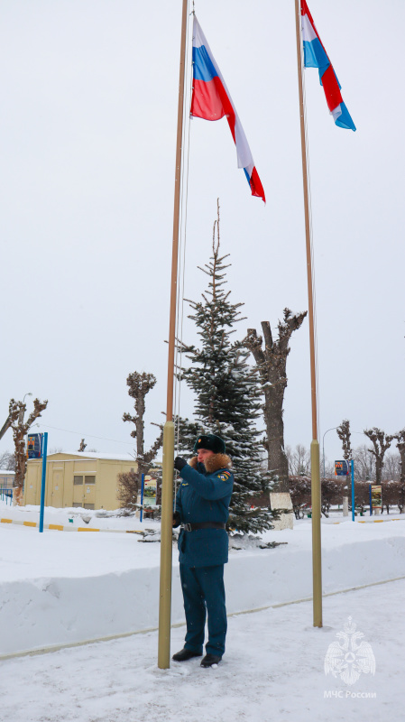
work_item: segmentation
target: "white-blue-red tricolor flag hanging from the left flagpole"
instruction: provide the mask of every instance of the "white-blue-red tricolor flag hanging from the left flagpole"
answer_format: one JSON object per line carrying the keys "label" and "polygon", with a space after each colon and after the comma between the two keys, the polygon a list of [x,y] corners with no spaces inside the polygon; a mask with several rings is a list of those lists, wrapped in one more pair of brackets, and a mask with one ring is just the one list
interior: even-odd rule
{"label": "white-blue-red tricolor flag hanging from the left flagpole", "polygon": [[236,145],[238,168],[244,169],[252,195],[266,202],[244,128],[196,15],[193,26],[193,93],[190,115],[205,120],[220,120],[226,116]]}

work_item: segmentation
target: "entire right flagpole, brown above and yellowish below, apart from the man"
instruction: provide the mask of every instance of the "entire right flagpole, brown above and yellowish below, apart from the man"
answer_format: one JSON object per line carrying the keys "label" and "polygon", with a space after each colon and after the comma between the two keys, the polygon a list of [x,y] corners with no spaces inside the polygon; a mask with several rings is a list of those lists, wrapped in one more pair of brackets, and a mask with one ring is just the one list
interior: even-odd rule
{"label": "entire right flagpole, brown above and yellowish below, apart from the man", "polygon": [[295,21],[297,34],[297,65],[299,74],[299,123],[301,131],[302,181],[304,190],[305,239],[307,249],[307,282],[308,282],[308,320],[309,320],[309,356],[311,374],[311,408],[312,408],[312,441],[311,441],[311,503],[312,503],[312,589],[313,589],[313,625],[322,626],[322,557],[321,557],[321,496],[319,473],[319,442],[318,442],[318,404],[317,404],[317,373],[315,350],[315,322],[313,298],[313,273],[311,258],[311,225],[309,215],[308,192],[308,158],[307,129],[305,125],[304,88],[302,76],[302,37],[301,37],[301,4],[295,0]]}

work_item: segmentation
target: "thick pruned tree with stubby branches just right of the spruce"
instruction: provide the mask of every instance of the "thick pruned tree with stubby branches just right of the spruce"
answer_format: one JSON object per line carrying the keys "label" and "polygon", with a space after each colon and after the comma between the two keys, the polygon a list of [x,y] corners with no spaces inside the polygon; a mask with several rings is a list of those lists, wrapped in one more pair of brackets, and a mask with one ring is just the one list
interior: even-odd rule
{"label": "thick pruned tree with stubby branches just right of the spruce", "polygon": [[[263,446],[268,452],[268,469],[277,479],[278,491],[289,491],[289,465],[284,448],[283,403],[287,387],[287,356],[290,338],[307,316],[307,311],[293,314],[284,309],[283,320],[278,324],[278,338],[273,340],[269,321],[262,321],[262,336],[255,329],[247,329],[244,346],[251,351],[259,372],[264,394],[262,411],[266,426]],[[263,346],[264,339],[264,346]]]}

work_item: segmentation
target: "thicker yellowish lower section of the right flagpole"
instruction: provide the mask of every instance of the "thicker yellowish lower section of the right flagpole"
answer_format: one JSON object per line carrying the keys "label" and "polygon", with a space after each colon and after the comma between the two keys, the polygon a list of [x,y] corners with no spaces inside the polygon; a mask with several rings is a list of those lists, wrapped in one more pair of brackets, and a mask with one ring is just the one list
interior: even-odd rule
{"label": "thicker yellowish lower section of the right flagpole", "polygon": [[319,442],[311,441],[311,502],[312,502],[312,588],[314,626],[322,626],[322,553],[320,537],[320,473]]}

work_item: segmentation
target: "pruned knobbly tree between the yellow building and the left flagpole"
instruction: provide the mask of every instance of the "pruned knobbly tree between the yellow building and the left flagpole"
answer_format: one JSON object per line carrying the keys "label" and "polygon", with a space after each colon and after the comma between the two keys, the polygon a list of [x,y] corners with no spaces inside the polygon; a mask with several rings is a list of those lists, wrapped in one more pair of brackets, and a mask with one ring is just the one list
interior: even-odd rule
{"label": "pruned knobbly tree between the yellow building and the left flagpole", "polygon": [[[160,429],[159,436],[152,444],[152,447],[145,451],[144,448],[144,428],[145,424],[143,417],[145,415],[145,397],[146,394],[152,391],[152,388],[156,384],[156,377],[153,374],[146,374],[144,371],[140,374],[138,371],[134,371],[133,374],[128,375],[126,379],[126,385],[128,386],[128,394],[133,398],[133,406],[135,409],[135,415],[130,413],[124,413],[123,421],[131,421],[135,428],[131,431],[131,436],[136,439],[136,456],[135,461],[137,463],[137,469],[133,472],[133,477],[130,477],[124,482],[121,482],[121,477],[118,476],[119,494],[125,495],[125,499],[131,502],[133,497],[136,498],[138,489],[141,487],[141,477],[146,474],[151,467],[153,459],[156,457],[159,449],[163,444],[163,426],[161,424],[154,424]],[[128,475],[126,475],[128,477]],[[128,486],[132,481],[133,486]],[[124,485],[124,486],[123,486]],[[125,492],[126,488],[126,492]],[[121,498],[121,497],[120,497]],[[124,504],[124,501],[122,502]],[[126,504],[124,504],[126,506]]]}

